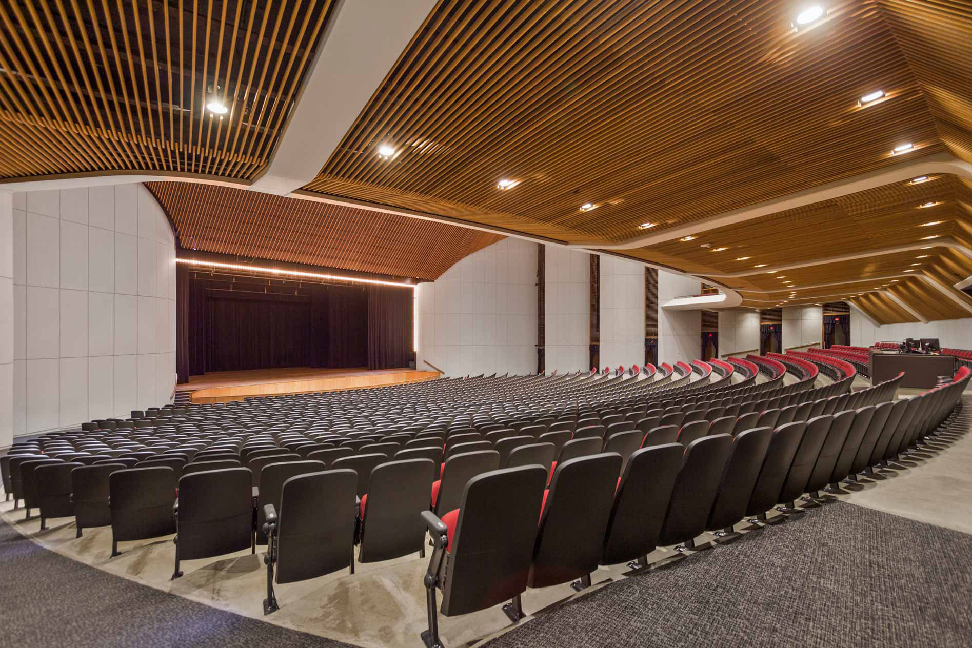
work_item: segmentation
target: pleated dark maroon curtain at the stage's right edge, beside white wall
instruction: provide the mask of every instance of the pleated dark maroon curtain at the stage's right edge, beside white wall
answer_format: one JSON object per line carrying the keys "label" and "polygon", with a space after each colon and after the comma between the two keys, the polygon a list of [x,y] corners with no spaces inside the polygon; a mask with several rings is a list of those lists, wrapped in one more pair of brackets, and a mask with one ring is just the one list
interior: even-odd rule
{"label": "pleated dark maroon curtain at the stage's right edge, beside white wall", "polygon": [[408,366],[414,292],[386,286],[367,290],[367,368]]}

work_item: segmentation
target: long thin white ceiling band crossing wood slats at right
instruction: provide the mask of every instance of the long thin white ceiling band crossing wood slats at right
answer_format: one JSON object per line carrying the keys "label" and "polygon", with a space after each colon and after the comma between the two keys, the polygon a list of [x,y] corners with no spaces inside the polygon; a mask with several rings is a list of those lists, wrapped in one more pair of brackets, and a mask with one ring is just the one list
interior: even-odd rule
{"label": "long thin white ceiling band crossing wood slats at right", "polygon": [[605,245],[603,243],[574,243],[573,248],[598,247],[603,250],[632,250],[644,248],[646,246],[664,243],[682,236],[696,235],[700,232],[725,227],[739,222],[751,221],[770,214],[777,214],[788,209],[804,207],[823,200],[831,200],[842,196],[851,195],[858,191],[883,187],[892,183],[911,180],[916,176],[933,175],[938,173],[951,173],[962,178],[972,180],[972,164],[964,162],[949,153],[935,153],[916,159],[912,162],[902,162],[894,166],[886,167],[880,171],[872,171],[857,176],[852,176],[846,180],[835,183],[828,183],[816,188],[804,189],[774,200],[735,209],[722,214],[716,214],[708,219],[687,223],[681,227],[670,227],[668,229],[638,236],[628,239],[623,243]]}

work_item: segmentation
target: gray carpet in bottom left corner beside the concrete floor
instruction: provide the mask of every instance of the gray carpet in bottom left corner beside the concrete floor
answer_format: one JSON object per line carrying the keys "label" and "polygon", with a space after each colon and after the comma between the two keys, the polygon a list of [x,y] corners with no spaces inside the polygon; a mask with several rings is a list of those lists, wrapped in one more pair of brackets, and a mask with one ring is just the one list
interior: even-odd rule
{"label": "gray carpet in bottom left corner beside the concrete floor", "polygon": [[2,645],[29,648],[350,648],[77,563],[34,544],[3,520],[0,633]]}

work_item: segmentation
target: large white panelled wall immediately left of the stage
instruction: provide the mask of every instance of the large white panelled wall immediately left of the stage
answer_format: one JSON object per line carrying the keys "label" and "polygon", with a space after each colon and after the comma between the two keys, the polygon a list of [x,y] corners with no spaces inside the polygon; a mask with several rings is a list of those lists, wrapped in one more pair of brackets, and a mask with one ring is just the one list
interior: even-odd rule
{"label": "large white panelled wall immediately left of the stage", "polygon": [[140,184],[14,194],[14,433],[127,417],[175,385],[175,240]]}

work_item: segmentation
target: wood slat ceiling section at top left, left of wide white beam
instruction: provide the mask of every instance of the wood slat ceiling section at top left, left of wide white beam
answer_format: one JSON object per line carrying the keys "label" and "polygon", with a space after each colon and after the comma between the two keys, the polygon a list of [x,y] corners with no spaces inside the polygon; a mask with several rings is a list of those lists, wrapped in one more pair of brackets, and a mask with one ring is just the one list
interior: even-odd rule
{"label": "wood slat ceiling section at top left, left of wide white beam", "polygon": [[[252,179],[330,5],[0,3],[0,178],[142,170]],[[214,99],[226,115],[206,110]]]}

